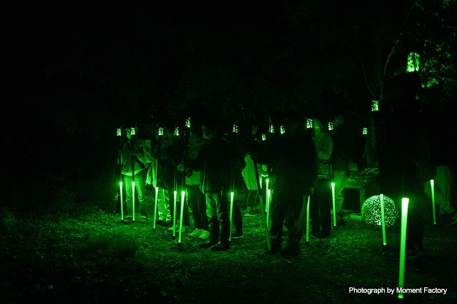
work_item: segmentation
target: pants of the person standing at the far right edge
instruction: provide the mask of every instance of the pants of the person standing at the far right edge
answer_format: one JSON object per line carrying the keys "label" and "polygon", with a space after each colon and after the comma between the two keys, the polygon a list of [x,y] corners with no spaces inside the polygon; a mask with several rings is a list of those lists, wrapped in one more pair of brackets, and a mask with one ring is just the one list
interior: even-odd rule
{"label": "pants of the person standing at the far right edge", "polygon": [[[440,214],[452,213],[450,205],[452,178],[448,166],[437,166],[436,175],[433,177],[433,188],[435,189],[435,202],[440,209]],[[427,196],[432,199],[432,186],[430,181],[423,185]]]}

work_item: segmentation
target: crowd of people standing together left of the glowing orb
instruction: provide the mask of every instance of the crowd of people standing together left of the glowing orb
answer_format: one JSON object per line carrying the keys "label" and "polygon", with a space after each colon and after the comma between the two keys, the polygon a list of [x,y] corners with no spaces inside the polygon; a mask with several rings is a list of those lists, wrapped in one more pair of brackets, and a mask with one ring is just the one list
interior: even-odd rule
{"label": "crowd of people standing together left of the glowing orb", "polygon": [[[204,241],[200,244],[202,248],[222,251],[230,248],[230,236],[243,237],[241,207],[246,207],[246,216],[260,213],[256,207],[262,187],[259,179],[268,176],[270,188],[274,189],[267,219],[270,252],[297,255],[301,251],[308,198],[311,236],[331,235],[332,181],[338,224],[344,224],[340,211],[345,182],[358,170],[365,143],[360,128],[348,123],[344,115],[334,117],[332,131],[324,128],[317,118],[313,118],[309,128],[297,111],[285,113],[281,126],[284,132],[268,139],[256,124],[249,126],[251,134],[243,137],[232,130],[224,132],[216,119],[192,123],[191,127],[178,129],[180,134],[173,126],[164,125],[147,139],[135,138],[130,128],[126,128],[119,151],[124,184],[135,182],[141,217],[154,212],[147,208],[147,185],[158,187],[156,223],[171,232],[179,226],[172,223],[173,210],[180,210],[180,204],[184,204],[184,212],[175,221],[182,221],[183,232],[188,232],[189,204],[195,226],[189,236]],[[128,216],[133,212],[133,189],[129,186],[125,189]],[[180,194],[182,189],[187,199],[181,201],[180,195],[175,199],[175,191]],[[229,218],[231,192],[235,194],[233,219]],[[175,202],[178,206],[174,206]],[[231,220],[235,227],[233,234]],[[282,248],[284,227],[288,238]]]}

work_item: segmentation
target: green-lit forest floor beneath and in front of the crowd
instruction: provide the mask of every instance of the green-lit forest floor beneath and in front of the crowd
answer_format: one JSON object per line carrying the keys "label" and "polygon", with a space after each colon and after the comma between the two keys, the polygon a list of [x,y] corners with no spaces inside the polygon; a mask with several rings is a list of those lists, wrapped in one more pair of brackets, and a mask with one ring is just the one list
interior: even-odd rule
{"label": "green-lit forest floor beneath and in front of the crowd", "polygon": [[[260,216],[243,217],[244,238],[213,252],[183,235],[178,248],[152,220],[121,223],[89,209],[36,215],[2,211],[0,302],[143,303],[390,303],[397,293],[350,293],[396,288],[398,261],[383,256],[380,230],[346,216],[329,239],[302,244],[302,254],[266,253]],[[398,243],[397,223],[387,243]],[[457,224],[426,225],[426,255],[407,261],[405,287],[447,288],[445,295],[409,293],[403,302],[457,302]]]}

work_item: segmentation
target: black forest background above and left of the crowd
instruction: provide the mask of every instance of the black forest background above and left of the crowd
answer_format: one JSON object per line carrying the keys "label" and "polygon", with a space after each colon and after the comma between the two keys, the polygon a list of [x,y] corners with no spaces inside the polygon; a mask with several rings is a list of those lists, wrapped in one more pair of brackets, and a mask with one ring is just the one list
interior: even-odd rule
{"label": "black forest background above and left of the crowd", "polygon": [[[452,162],[455,1],[6,2],[2,204],[112,208],[116,128],[417,105]],[[420,70],[406,73],[410,52]],[[443,145],[443,143],[445,143]]]}

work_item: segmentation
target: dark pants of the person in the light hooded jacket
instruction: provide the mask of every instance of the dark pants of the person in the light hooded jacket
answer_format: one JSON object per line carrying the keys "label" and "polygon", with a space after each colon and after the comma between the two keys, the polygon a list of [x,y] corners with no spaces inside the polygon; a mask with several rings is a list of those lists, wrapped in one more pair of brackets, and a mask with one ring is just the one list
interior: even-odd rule
{"label": "dark pants of the person in the light hooded jacket", "polygon": [[316,189],[314,194],[311,196],[309,203],[312,232],[318,232],[322,226],[323,232],[330,233],[331,191],[332,189],[330,178],[319,178],[317,180]]}

